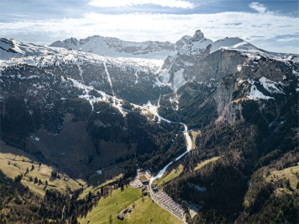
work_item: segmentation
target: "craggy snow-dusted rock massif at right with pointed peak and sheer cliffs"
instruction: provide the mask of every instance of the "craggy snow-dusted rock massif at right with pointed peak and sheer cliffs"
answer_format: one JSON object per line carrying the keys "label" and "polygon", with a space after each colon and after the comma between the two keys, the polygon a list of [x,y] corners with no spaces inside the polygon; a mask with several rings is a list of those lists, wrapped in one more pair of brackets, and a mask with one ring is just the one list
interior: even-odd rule
{"label": "craggy snow-dusted rock massif at right with pointed peak and sheer cliffs", "polygon": [[[259,49],[238,37],[213,42],[197,30],[176,55],[167,57],[159,77],[191,101],[205,97],[199,107],[213,101],[216,122],[233,123],[243,119],[243,100],[275,100],[297,94],[297,58],[298,55],[290,57]],[[190,82],[199,83],[206,93]]]}

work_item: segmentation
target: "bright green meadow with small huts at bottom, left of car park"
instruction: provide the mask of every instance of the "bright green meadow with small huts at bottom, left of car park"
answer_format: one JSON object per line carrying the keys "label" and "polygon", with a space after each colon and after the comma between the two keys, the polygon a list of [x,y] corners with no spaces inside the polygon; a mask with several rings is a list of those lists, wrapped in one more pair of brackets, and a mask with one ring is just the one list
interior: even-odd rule
{"label": "bright green meadow with small huts at bottom, left of car park", "polygon": [[[112,192],[112,196],[108,196],[106,199],[102,198],[99,204],[94,208],[87,216],[78,219],[81,224],[87,223],[90,220],[91,224],[106,224],[109,223],[109,216],[112,215],[113,224],[128,223],[128,224],[145,224],[150,222],[152,224],[160,223],[181,223],[179,219],[168,213],[166,210],[159,207],[157,204],[146,197],[145,201],[141,200],[141,189],[134,189],[132,187],[125,187],[125,190],[121,192],[120,189]],[[138,201],[139,200],[139,201]],[[117,214],[124,211],[129,206],[132,207],[133,201],[135,201],[135,209],[131,214],[125,216],[124,221],[117,219]],[[118,205],[116,205],[118,202]]]}

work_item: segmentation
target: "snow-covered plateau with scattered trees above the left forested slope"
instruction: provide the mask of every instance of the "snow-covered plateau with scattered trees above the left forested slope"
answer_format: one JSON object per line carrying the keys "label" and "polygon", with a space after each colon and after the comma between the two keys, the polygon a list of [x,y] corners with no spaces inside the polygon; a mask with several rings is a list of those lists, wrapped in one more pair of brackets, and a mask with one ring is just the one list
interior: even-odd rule
{"label": "snow-covered plateau with scattered trees above the left forested slope", "polygon": [[80,50],[24,43],[8,38],[1,38],[0,44],[1,69],[5,66],[17,64],[44,67],[61,63],[81,65],[84,62],[88,62],[94,64],[106,63],[123,69],[131,67],[136,71],[155,73],[163,63],[160,59],[114,58],[86,53]]}

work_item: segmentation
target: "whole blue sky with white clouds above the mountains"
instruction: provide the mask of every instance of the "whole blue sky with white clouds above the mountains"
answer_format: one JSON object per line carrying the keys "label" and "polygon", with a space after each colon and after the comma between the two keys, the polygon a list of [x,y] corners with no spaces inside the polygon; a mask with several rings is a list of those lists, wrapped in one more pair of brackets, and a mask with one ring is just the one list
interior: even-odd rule
{"label": "whole blue sky with white clouds above the mountains", "polygon": [[92,35],[175,43],[197,29],[299,53],[299,1],[0,0],[0,36],[36,44]]}

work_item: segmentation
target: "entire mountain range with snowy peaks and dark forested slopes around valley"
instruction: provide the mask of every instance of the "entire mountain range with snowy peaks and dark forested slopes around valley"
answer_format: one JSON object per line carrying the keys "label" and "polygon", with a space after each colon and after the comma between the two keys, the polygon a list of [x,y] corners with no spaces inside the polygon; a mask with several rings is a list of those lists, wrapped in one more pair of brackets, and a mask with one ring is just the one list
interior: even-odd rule
{"label": "entire mountain range with snowy peaks and dark forested slopes around valley", "polygon": [[[173,162],[181,174],[163,191],[190,224],[298,222],[299,55],[200,30],[176,43],[1,38],[0,70],[1,141],[40,163],[87,182],[122,173],[121,187]],[[182,124],[192,149],[176,161]],[[190,202],[202,207],[192,217]],[[68,209],[69,220],[82,212]]]}

